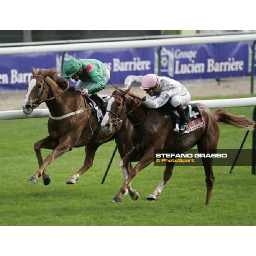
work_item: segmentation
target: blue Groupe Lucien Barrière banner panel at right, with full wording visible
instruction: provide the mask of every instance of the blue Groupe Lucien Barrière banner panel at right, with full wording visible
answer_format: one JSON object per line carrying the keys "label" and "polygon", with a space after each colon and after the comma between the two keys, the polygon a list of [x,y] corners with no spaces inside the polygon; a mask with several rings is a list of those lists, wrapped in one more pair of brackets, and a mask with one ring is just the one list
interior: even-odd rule
{"label": "blue Groupe Lucien Barri\u00e8re banner panel at right, with full wording visible", "polygon": [[163,47],[161,73],[176,80],[249,76],[251,43]]}

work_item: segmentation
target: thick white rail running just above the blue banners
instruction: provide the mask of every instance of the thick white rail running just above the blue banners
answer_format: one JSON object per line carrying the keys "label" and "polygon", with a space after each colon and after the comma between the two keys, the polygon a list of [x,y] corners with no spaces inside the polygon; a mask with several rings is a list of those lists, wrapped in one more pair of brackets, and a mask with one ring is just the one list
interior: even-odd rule
{"label": "thick white rail running just above the blue banners", "polygon": [[256,41],[256,33],[245,34],[245,35],[215,35],[215,36],[189,37],[189,38],[163,38],[163,39],[138,40],[138,41],[3,47],[3,48],[0,48],[0,55],[25,54],[25,53],[35,53],[35,52],[36,53],[66,52],[66,51],[81,51],[81,50],[93,50],[93,49],[143,48],[143,47],[185,45],[185,44],[212,44],[212,43],[226,43],[226,42],[238,42],[238,41]]}

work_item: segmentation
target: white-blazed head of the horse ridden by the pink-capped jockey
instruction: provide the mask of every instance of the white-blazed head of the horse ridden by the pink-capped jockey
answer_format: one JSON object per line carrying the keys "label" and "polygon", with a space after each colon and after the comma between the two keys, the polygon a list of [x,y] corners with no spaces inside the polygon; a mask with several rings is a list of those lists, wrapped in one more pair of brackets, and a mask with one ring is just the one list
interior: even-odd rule
{"label": "white-blazed head of the horse ridden by the pink-capped jockey", "polygon": [[[102,129],[105,132],[112,132],[122,120],[141,104],[140,97],[130,92],[131,87],[126,90],[116,89],[108,100],[106,114],[102,120]],[[137,100],[139,103],[136,103]],[[136,101],[136,102],[135,102]]]}

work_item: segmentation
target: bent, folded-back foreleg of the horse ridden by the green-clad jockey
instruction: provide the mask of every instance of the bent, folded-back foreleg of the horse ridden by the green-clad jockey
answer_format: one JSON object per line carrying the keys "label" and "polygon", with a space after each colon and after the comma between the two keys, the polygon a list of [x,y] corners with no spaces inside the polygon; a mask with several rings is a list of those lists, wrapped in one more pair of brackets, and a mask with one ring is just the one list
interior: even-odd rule
{"label": "bent, folded-back foreleg of the horse ridden by the green-clad jockey", "polygon": [[[58,142],[55,140],[52,140],[52,138],[50,136],[44,138],[43,140],[37,141],[34,144],[34,151],[35,151],[36,157],[38,159],[39,168],[41,168],[41,166],[44,163],[44,160],[43,160],[42,154],[41,154],[41,148],[55,149],[57,147],[57,145],[58,145]],[[44,169],[42,175],[43,175],[44,185],[49,185],[49,183],[51,182],[51,177],[46,172],[46,169]]]}

